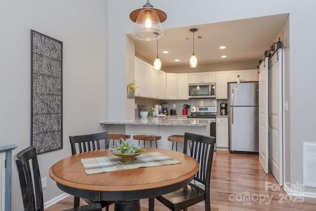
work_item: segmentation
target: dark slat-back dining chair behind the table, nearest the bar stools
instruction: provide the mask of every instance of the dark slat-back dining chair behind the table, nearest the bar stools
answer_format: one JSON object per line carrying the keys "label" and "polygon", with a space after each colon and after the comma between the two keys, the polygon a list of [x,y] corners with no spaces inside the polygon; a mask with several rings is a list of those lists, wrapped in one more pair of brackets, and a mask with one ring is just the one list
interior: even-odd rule
{"label": "dark slat-back dining chair behind the table, nearest the bar stools", "polygon": [[[69,136],[70,144],[71,144],[71,152],[73,155],[83,152],[89,152],[92,150],[98,150],[100,148],[100,141],[103,140],[105,144],[105,149],[109,148],[108,142],[108,133],[101,132],[101,133],[93,133],[87,135],[73,135]],[[79,152],[78,152],[79,150]],[[93,200],[84,199],[86,203],[92,204],[95,203]],[[113,204],[112,201],[100,201],[101,207],[106,207],[106,211],[109,211],[109,205]],[[74,207],[79,206],[79,197],[75,196]]]}

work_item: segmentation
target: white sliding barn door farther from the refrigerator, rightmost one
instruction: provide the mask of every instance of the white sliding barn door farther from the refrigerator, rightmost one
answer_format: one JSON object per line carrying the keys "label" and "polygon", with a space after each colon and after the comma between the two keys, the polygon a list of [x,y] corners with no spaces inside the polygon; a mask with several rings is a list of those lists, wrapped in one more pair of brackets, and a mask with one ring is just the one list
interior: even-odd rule
{"label": "white sliding barn door farther from the refrigerator, rightmost one", "polygon": [[282,49],[269,61],[269,169],[283,186]]}

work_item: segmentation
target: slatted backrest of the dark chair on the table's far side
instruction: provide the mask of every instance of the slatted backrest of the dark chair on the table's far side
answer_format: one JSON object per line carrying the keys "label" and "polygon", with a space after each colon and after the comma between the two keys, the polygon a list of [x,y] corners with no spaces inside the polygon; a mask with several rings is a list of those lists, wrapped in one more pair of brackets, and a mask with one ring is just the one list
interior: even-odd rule
{"label": "slatted backrest of the dark chair on the table's far side", "polygon": [[[69,136],[69,140],[73,155],[100,149],[100,140],[104,140],[106,149],[109,148],[107,132]],[[76,148],[79,149],[79,152]]]}

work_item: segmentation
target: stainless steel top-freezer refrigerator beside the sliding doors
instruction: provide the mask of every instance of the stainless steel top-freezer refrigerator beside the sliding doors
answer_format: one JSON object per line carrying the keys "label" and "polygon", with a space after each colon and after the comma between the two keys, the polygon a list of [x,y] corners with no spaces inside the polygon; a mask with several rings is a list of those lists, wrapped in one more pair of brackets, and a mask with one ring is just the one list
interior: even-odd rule
{"label": "stainless steel top-freezer refrigerator beside the sliding doors", "polygon": [[230,84],[230,151],[259,152],[259,84]]}

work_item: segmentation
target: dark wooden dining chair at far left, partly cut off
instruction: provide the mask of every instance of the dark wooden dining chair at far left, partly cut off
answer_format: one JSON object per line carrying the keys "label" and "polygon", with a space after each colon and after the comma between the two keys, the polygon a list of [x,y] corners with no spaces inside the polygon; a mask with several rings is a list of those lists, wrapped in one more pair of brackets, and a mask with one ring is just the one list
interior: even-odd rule
{"label": "dark wooden dining chair at far left, partly cut off", "polygon": [[[40,169],[35,146],[20,151],[14,156],[14,160],[19,173],[24,211],[44,211]],[[102,211],[102,208],[99,203],[95,203],[65,211]]]}

